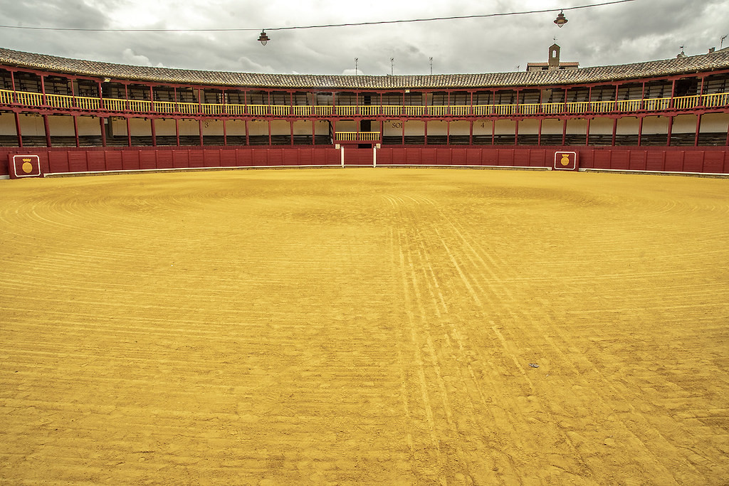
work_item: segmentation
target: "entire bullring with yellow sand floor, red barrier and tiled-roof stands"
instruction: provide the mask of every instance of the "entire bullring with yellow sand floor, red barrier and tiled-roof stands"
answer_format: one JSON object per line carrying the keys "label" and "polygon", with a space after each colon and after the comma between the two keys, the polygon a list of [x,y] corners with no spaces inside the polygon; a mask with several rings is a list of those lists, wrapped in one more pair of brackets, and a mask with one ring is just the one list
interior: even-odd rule
{"label": "entire bullring with yellow sand floor, red barrier and tiled-roof stands", "polygon": [[0,482],[726,485],[729,48],[559,50],[0,47]]}

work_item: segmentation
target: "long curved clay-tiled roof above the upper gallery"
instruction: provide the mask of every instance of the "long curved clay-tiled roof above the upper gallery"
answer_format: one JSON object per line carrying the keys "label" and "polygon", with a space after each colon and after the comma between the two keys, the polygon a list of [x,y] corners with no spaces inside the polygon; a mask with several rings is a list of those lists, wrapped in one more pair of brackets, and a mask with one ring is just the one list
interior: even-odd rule
{"label": "long curved clay-tiled roof above the upper gallery", "polygon": [[486,74],[433,74],[413,76],[332,76],[317,74],[257,74],[227,71],[128,66],[92,60],[60,58],[0,48],[0,64],[119,80],[214,85],[305,89],[383,89],[474,88],[508,86],[572,85],[609,82],[621,79],[670,76],[672,74],[729,68],[729,49],[686,58],[653,60],[647,63],[597,66],[574,70],[519,71]]}

